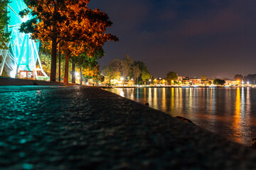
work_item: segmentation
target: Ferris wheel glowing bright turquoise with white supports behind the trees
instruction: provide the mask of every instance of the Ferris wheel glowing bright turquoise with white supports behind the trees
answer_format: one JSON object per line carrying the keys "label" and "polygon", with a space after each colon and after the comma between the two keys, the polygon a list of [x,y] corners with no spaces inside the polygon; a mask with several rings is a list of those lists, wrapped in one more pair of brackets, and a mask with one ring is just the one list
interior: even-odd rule
{"label": "Ferris wheel glowing bright turquoise with white supports behind the trees", "polygon": [[[11,32],[11,40],[8,43],[9,50],[0,50],[1,67],[10,77],[16,77],[20,71],[33,71],[36,78],[48,77],[43,72],[43,67],[38,55],[39,42],[31,40],[29,34],[21,33],[18,29],[21,23],[28,21],[33,16],[28,15],[23,18],[18,15],[20,11],[27,8],[23,0],[12,0],[7,5],[9,24],[6,31]],[[40,75],[39,75],[39,74]]]}

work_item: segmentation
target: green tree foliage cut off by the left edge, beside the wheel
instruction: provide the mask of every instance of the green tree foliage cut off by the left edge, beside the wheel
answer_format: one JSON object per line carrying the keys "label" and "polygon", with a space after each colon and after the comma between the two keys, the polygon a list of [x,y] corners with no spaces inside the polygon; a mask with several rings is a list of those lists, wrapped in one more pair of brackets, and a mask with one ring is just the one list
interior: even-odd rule
{"label": "green tree foliage cut off by the left edge, beside the wheel", "polygon": [[9,23],[9,17],[7,16],[6,6],[8,0],[0,1],[0,49],[8,49],[7,43],[9,42],[10,33],[6,33],[6,25]]}

